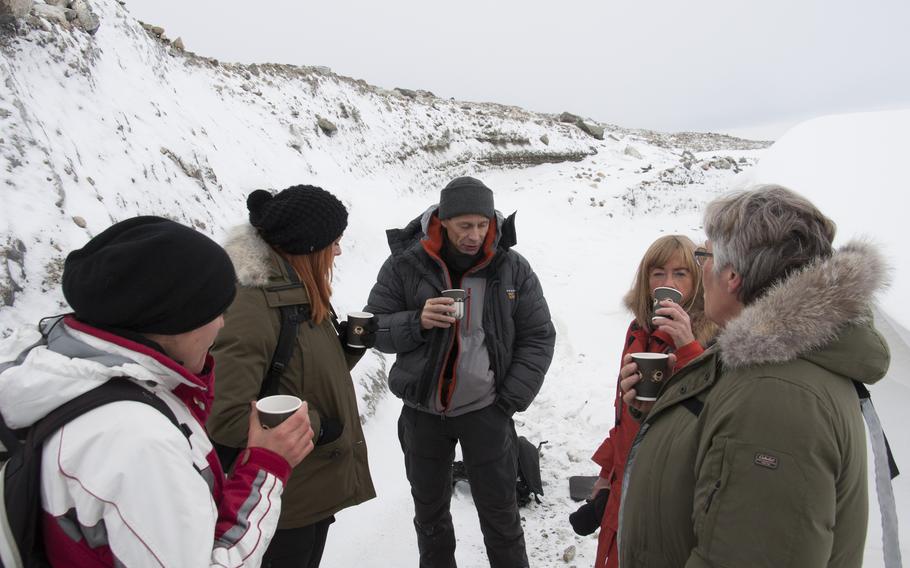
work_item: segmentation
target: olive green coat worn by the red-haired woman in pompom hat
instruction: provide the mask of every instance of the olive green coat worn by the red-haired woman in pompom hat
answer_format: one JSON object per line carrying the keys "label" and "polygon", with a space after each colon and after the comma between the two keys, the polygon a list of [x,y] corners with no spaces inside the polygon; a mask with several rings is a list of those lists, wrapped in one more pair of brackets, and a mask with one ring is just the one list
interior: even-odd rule
{"label": "olive green coat worn by the red-haired woman in pompom hat", "polygon": [[[235,229],[225,245],[237,270],[237,297],[225,313],[215,357],[215,403],[208,421],[213,440],[246,443],[249,401],[257,398],[280,330],[279,307],[309,303],[306,289],[291,287],[280,257],[249,226]],[[284,288],[284,289],[282,289]],[[278,527],[298,528],[376,496],[350,368],[330,320],[302,323],[281,379],[280,394],[307,402],[313,431],[323,417],[341,421],[341,436],[313,452],[291,474]]]}

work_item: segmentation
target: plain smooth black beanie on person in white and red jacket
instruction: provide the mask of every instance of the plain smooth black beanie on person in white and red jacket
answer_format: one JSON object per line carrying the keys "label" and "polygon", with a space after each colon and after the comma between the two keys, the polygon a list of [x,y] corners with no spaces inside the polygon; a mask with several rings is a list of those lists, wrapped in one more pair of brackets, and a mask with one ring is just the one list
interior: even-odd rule
{"label": "plain smooth black beanie on person in white and red jacket", "polygon": [[66,257],[63,295],[99,327],[176,335],[234,301],[234,266],[202,233],[161,217],[134,217]]}

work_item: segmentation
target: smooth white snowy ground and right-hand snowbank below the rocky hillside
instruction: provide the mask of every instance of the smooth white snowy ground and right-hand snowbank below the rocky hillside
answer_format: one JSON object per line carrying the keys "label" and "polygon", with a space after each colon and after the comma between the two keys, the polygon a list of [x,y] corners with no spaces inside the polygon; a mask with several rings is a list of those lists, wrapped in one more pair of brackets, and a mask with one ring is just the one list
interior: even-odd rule
{"label": "smooth white snowy ground and right-hand snowbank below the rocky hillside", "polygon": [[[527,256],[536,268],[559,334],[556,356],[540,395],[527,412],[516,416],[520,434],[534,442],[547,441],[541,459],[546,495],[541,504],[531,504],[523,510],[532,566],[593,564],[596,538],[575,535],[567,522],[568,514],[577,507],[568,497],[567,479],[570,475],[597,472],[589,458],[610,427],[621,339],[630,319],[620,305],[620,298],[631,284],[638,260],[656,237],[683,233],[703,239],[700,210],[713,196],[754,183],[786,183],[810,197],[838,223],[838,243],[858,235],[879,242],[896,267],[891,294],[907,289],[910,254],[900,246],[901,225],[882,222],[892,216],[896,219],[906,210],[906,201],[903,208],[896,206],[906,199],[895,187],[896,183],[903,183],[898,176],[900,162],[891,162],[890,173],[883,171],[886,166],[882,164],[893,153],[906,155],[910,147],[906,142],[901,146],[890,136],[889,128],[876,125],[887,124],[901,131],[899,124],[910,127],[907,119],[910,115],[887,114],[830,117],[802,125],[766,151],[756,168],[730,179],[726,186],[659,193],[647,214],[629,207],[621,199],[625,194],[623,182],[593,188],[574,177],[573,171],[617,169],[610,158],[593,157],[568,171],[564,165],[554,165],[520,172],[489,172],[483,176],[495,188],[500,209],[518,210],[516,250]],[[807,160],[802,150],[817,147],[819,138],[830,138],[832,123],[840,125],[836,140],[859,140],[863,151],[851,144],[853,151],[843,153],[831,144],[826,148],[830,151],[830,161],[824,151],[817,160]],[[855,172],[855,176],[846,175],[846,171]],[[627,179],[625,183],[630,182]],[[430,197],[425,201],[429,202]],[[693,200],[691,206],[689,199]],[[603,207],[599,206],[601,200],[605,203]],[[860,200],[865,205],[857,206],[856,201]],[[888,203],[893,206],[887,207]],[[415,206],[411,212],[416,214],[418,210]],[[402,225],[408,218],[402,213],[387,225]],[[374,267],[379,262],[376,259]],[[901,310],[892,309],[906,306],[895,299],[881,307],[888,318],[882,321],[881,327],[891,343],[894,362],[890,375],[872,389],[872,396],[898,464],[910,470],[910,435],[903,430],[900,420],[910,402],[910,380],[905,372],[910,364],[907,348],[910,336],[905,329],[900,330],[900,322],[904,321],[900,319]],[[395,429],[399,409],[398,401],[386,400],[367,424],[371,463],[378,465],[374,465],[374,475],[379,497],[338,516],[326,552],[328,567],[414,562],[412,505]],[[898,477],[894,486],[899,519],[904,523],[900,541],[903,556],[907,558],[910,557],[907,474]],[[864,566],[884,566],[871,477],[869,495],[871,509]],[[468,488],[457,487],[452,509],[459,565],[486,565]],[[356,546],[351,543],[351,534],[359,535]],[[572,546],[575,558],[565,562],[563,555]]]}

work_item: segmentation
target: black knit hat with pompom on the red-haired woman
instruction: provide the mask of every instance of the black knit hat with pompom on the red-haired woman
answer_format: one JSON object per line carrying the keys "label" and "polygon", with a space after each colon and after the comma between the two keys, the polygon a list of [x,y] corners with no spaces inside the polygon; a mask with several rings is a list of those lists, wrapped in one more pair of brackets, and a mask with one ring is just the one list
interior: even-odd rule
{"label": "black knit hat with pompom on the red-haired woman", "polygon": [[246,208],[263,240],[291,254],[322,250],[348,226],[348,210],[341,201],[312,185],[295,185],[275,195],[257,189],[246,198]]}

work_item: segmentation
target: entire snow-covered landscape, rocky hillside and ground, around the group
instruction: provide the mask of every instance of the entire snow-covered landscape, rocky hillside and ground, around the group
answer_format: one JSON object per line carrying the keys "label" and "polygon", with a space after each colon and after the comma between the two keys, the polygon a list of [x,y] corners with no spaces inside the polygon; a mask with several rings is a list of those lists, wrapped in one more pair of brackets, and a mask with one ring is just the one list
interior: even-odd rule
{"label": "entire snow-covered landscape, rocky hillside and ground, around the group", "polygon": [[[567,479],[597,471],[589,458],[610,426],[630,317],[620,298],[638,260],[661,234],[703,238],[700,211],[723,191],[782,182],[838,222],[839,242],[865,233],[895,260],[882,305],[895,362],[873,398],[910,470],[910,435],[898,421],[910,402],[910,314],[897,296],[910,285],[897,218],[908,205],[899,171],[908,113],[808,123],[770,150],[610,125],[598,140],[514,107],[390,93],[314,68],[214,64],[153,37],[115,0],[93,5],[102,19],[94,37],[56,25],[0,35],[0,336],[65,310],[63,258],[112,221],[166,215],[222,238],[243,220],[250,190],[294,183],[322,185],[347,204],[334,301],[359,309],[388,254],[384,230],[405,225],[452,177],[475,175],[500,210],[518,211],[516,250],[540,276],[559,334],[540,395],[516,416],[520,434],[547,442],[546,494],[523,510],[531,564],[590,566],[596,539],[568,524],[577,504]],[[337,132],[327,135],[319,118]],[[416,563],[400,402],[382,382],[392,360],[371,353],[355,370],[379,496],[337,516],[328,568]],[[906,475],[895,487],[910,543]],[[457,487],[452,508],[459,565],[487,565],[469,488]],[[865,565],[877,567],[871,513]]]}

